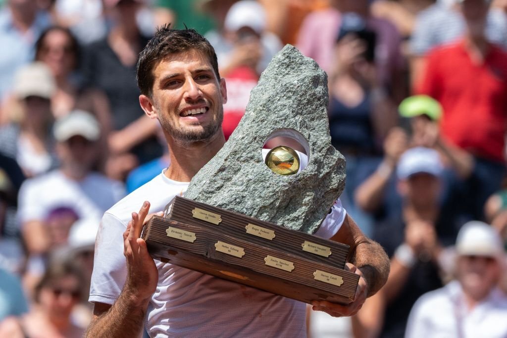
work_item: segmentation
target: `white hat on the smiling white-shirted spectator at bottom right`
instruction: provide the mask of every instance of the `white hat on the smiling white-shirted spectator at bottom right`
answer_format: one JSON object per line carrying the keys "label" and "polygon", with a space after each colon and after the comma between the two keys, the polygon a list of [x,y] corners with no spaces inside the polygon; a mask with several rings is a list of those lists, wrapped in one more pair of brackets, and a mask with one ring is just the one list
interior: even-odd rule
{"label": "white hat on the smiling white-shirted spectator at bottom right", "polygon": [[481,221],[463,224],[456,239],[458,255],[475,255],[501,258],[503,243],[495,228]]}

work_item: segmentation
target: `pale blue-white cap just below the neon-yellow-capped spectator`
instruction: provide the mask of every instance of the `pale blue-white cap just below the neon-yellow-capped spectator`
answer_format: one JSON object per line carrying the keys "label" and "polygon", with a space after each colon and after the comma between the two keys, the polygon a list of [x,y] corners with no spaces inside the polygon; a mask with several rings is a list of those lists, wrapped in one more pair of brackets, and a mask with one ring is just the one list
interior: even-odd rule
{"label": "pale blue-white cap just below the neon-yellow-capped spectator", "polygon": [[406,179],[414,174],[427,173],[439,177],[444,170],[439,153],[431,148],[415,147],[408,149],[398,161],[396,174]]}

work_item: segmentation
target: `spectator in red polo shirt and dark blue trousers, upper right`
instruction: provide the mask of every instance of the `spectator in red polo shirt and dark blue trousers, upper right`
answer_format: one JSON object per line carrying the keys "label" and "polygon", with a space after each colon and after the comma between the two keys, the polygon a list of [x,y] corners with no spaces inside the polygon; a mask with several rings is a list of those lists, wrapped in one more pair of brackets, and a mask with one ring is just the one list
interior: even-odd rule
{"label": "spectator in red polo shirt and dark blue trousers, upper right", "polygon": [[489,4],[488,0],[460,1],[464,35],[428,55],[417,86],[418,93],[442,104],[442,137],[474,156],[473,172],[460,186],[474,219],[483,219],[484,203],[505,174],[507,53],[487,41]]}

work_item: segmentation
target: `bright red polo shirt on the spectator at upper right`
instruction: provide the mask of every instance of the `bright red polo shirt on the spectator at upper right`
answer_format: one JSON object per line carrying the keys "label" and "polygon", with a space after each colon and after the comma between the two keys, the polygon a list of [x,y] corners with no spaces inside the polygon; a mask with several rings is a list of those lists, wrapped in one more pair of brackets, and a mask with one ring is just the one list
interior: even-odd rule
{"label": "bright red polo shirt on the spectator at upper right", "polygon": [[507,127],[507,53],[494,45],[474,62],[463,41],[438,47],[427,56],[419,94],[443,107],[441,134],[470,153],[504,160]]}

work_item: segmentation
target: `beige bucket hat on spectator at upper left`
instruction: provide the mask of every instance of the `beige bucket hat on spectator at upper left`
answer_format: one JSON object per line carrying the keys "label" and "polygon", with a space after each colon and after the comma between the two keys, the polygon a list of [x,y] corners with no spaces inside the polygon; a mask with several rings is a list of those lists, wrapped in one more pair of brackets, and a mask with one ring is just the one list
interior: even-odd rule
{"label": "beige bucket hat on spectator at upper left", "polygon": [[39,96],[50,99],[56,84],[49,67],[43,62],[33,62],[21,67],[14,76],[13,92],[20,98]]}

